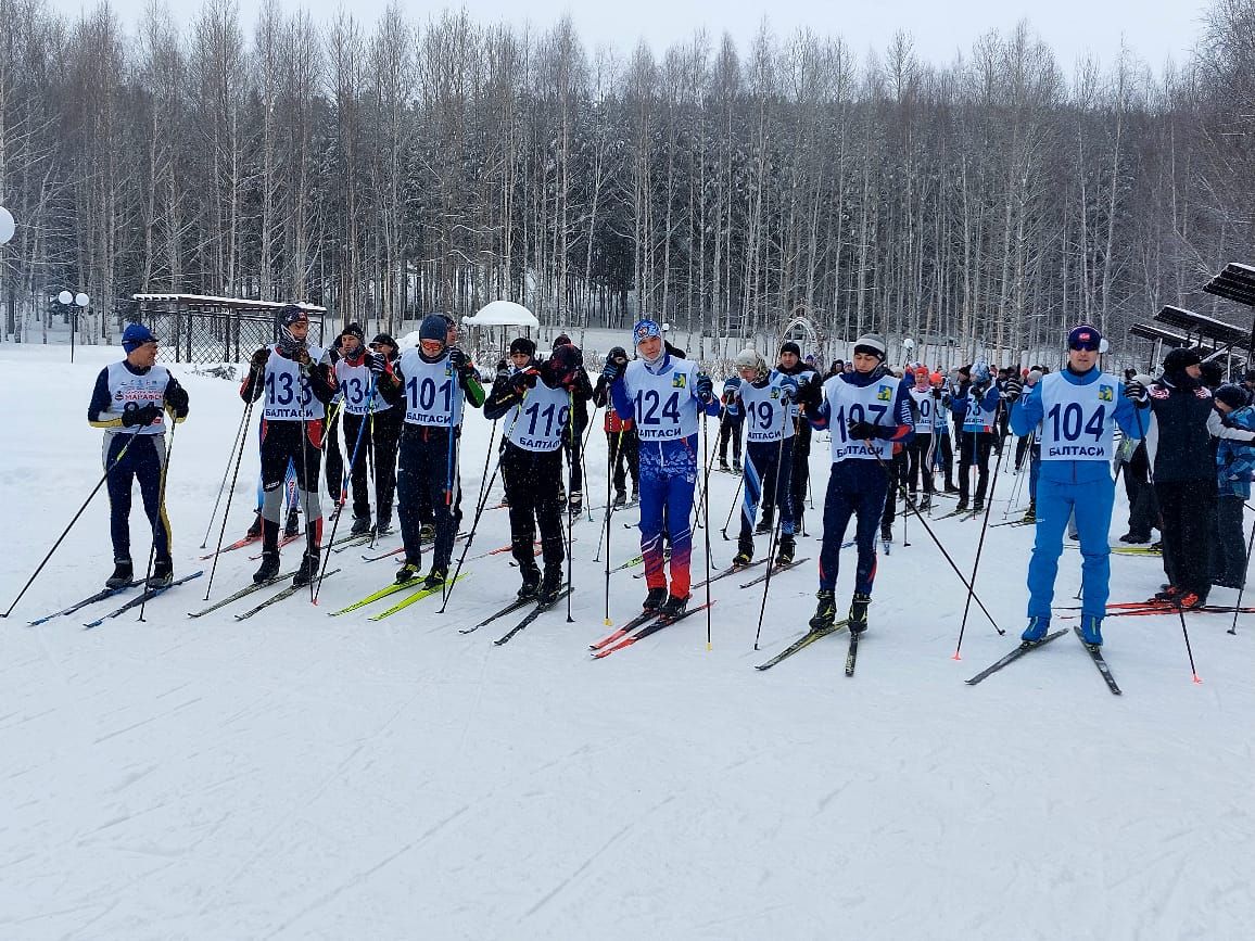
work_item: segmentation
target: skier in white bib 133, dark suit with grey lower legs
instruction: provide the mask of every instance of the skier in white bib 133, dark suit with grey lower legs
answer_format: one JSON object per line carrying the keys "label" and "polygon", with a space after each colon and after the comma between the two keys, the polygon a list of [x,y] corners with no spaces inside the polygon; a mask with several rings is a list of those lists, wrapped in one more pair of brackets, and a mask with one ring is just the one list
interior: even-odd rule
{"label": "skier in white bib 133, dark suit with grey lower legs", "polygon": [[305,555],[292,577],[309,585],[318,573],[323,543],[323,504],[318,496],[323,463],[326,403],[335,395],[331,360],[320,346],[307,343],[309,315],[289,304],[280,314],[280,339],[252,354],[248,375],[240,386],[245,401],[266,396],[261,432],[261,566],[257,583],[279,575],[279,523],[284,504],[287,463],[296,465],[297,498],[305,508]]}

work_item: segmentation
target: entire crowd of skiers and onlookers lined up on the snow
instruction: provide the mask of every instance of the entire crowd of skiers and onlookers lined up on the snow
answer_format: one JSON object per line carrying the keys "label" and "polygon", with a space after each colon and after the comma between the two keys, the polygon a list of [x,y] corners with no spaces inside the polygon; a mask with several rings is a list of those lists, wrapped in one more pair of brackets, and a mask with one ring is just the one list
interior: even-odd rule
{"label": "entire crowd of skiers and onlookers lined up on the snow", "polygon": [[[404,543],[397,581],[446,583],[462,518],[459,444],[469,405],[501,423],[499,474],[522,580],[518,596],[552,603],[566,558],[562,513],[584,508],[581,443],[590,403],[604,409],[611,507],[629,506],[629,481],[630,501],[640,504],[644,609],[663,617],[683,614],[689,601],[694,494],[714,464],[699,445],[699,424],[708,418],[718,422],[718,469],[742,478],[734,566],[752,562],[754,534],[764,532],[774,532],[771,565],[793,565],[812,433],[828,433],[818,606],[811,619],[817,631],[836,625],[838,552],[851,519],[857,562],[845,622],[860,632],[867,626],[876,540],[891,538],[896,497],[909,512],[926,511],[940,476],[943,492],[958,494],[955,512],[981,512],[990,455],[1000,458],[1010,435],[1018,438],[1017,467],[1027,462],[1030,476],[1025,522],[1037,524],[1025,644],[1047,634],[1065,532],[1081,543],[1083,639],[1102,644],[1113,468],[1123,474],[1130,502],[1122,540],[1148,542],[1153,528],[1161,533],[1167,583],[1160,598],[1197,607],[1212,585],[1245,581],[1242,506],[1255,469],[1255,373],[1226,384],[1217,364],[1192,349],[1171,351],[1157,378],[1127,370],[1119,379],[1098,365],[1107,341],[1082,325],[1068,334],[1068,360],[1058,371],[994,371],[976,361],[945,376],[925,364],[890,369],[885,339],[866,334],[850,360],[835,361],[826,375],[796,343],[774,350],[771,364],[745,349],[717,391],[712,376],[671,346],[656,321],[644,319],[631,331],[631,353],[626,344],[612,348],[595,384],[570,338],[557,338],[543,359],[532,340],[518,338],[486,390],[457,340],[452,319],[430,315],[407,349],[387,334],[366,344],[356,325],[323,349],[309,343],[304,309],[284,309],[279,340],[251,356],[240,388],[246,403],[262,403],[254,524],[262,553],[255,581],[279,576],[285,512],[292,528],[296,507],[305,516],[305,546],[294,581],[315,577],[325,550],[319,499],[325,454],[333,504],[346,502],[351,491],[353,533],[388,532],[395,503]],[[125,359],[102,370],[89,407],[89,420],[107,434],[110,586],[134,577],[128,527],[134,479],[154,533],[149,581],[168,585],[173,571],[164,433],[169,422],[187,417],[188,398],[156,364],[157,345],[144,326],[129,326]],[[536,563],[537,536],[543,567]],[[424,543],[432,543],[425,576]]]}

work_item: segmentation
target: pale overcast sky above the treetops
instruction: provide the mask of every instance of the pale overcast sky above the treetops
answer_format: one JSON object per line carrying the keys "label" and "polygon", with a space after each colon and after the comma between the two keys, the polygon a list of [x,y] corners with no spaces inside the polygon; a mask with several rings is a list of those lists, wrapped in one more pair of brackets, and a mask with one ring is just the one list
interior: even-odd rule
{"label": "pale overcast sky above the treetops", "polygon": [[[302,5],[316,19],[329,20],[340,0],[284,0],[289,9]],[[79,0],[53,0],[67,11],[90,8]],[[113,0],[123,20],[133,24],[146,0]],[[351,0],[344,4],[365,23],[373,23],[387,0]],[[950,63],[958,51],[966,53],[986,30],[1008,31],[1020,19],[1028,19],[1049,44],[1068,74],[1077,58],[1088,53],[1109,61],[1123,40],[1155,72],[1171,58],[1178,64],[1201,33],[1201,20],[1209,3],[1204,0],[725,0],[723,4],[698,0],[467,0],[461,4],[481,23],[511,21],[545,29],[563,13],[570,13],[589,51],[607,44],[630,51],[644,38],[655,50],[689,39],[705,28],[713,38],[724,31],[743,48],[754,35],[764,15],[778,38],[787,38],[801,26],[822,35],[841,35],[860,55],[867,49],[884,49],[895,30],[905,29],[915,38],[921,58],[936,64]],[[447,4],[408,3],[414,20],[442,10]],[[458,4],[453,4],[458,6]],[[178,0],[171,9],[179,16],[195,15],[198,0]],[[256,9],[250,0],[240,3],[246,23]]]}

